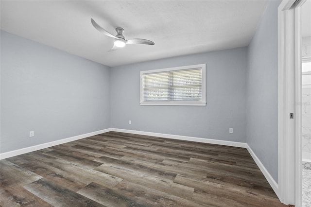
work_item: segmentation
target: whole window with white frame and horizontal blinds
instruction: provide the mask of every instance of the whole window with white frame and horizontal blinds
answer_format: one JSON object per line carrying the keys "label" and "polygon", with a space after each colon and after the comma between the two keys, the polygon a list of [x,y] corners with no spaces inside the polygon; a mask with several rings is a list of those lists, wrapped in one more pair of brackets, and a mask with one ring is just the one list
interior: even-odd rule
{"label": "whole window with white frame and horizontal blinds", "polygon": [[140,71],[140,105],[206,105],[206,65]]}

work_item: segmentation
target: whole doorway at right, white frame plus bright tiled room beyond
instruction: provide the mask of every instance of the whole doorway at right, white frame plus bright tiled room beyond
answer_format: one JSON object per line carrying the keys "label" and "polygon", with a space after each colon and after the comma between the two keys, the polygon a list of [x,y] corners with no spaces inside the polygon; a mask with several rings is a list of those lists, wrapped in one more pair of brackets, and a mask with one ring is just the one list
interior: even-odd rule
{"label": "whole doorway at right, white frame plus bright tiled room beyond", "polygon": [[283,0],[278,22],[278,195],[311,207],[311,1]]}

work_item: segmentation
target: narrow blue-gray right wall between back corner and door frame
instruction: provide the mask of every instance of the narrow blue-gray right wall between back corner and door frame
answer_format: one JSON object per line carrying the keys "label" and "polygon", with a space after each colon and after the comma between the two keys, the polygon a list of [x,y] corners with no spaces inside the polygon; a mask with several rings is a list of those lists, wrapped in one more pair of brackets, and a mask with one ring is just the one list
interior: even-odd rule
{"label": "narrow blue-gray right wall between back corner and door frame", "polygon": [[277,182],[277,7],[270,1],[247,51],[246,142]]}

